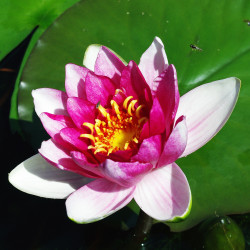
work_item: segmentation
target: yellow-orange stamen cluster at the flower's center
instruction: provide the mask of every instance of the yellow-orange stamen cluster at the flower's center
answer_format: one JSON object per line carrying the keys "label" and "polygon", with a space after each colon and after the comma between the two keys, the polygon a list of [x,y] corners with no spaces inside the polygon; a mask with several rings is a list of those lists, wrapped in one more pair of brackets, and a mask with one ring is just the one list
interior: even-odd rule
{"label": "yellow-orange stamen cluster at the flower's center", "polygon": [[141,115],[145,106],[137,104],[138,101],[133,100],[132,96],[126,97],[121,105],[111,100],[111,108],[97,104],[99,115],[95,124],[84,122],[83,126],[88,127],[90,133],[80,135],[91,140],[88,149],[93,150],[94,154],[103,153],[108,156],[118,150],[135,148],[139,143],[142,126],[147,121],[147,117]]}

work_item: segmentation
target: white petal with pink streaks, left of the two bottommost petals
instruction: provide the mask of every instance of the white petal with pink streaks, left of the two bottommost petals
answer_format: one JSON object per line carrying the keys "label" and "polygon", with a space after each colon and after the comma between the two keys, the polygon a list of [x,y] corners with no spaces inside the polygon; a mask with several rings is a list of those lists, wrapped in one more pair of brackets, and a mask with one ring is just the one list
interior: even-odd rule
{"label": "white petal with pink streaks, left of the two bottommost petals", "polygon": [[105,179],[95,180],[69,196],[68,217],[77,223],[101,220],[126,206],[133,199],[134,189]]}

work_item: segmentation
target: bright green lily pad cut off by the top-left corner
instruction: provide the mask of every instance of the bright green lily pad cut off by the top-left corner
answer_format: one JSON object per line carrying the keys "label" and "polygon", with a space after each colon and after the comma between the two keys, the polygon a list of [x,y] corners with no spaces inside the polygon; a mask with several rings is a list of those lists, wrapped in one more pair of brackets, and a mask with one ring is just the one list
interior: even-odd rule
{"label": "bright green lily pad cut off by the top-left corner", "polygon": [[0,61],[36,27],[39,35],[79,0],[1,0]]}

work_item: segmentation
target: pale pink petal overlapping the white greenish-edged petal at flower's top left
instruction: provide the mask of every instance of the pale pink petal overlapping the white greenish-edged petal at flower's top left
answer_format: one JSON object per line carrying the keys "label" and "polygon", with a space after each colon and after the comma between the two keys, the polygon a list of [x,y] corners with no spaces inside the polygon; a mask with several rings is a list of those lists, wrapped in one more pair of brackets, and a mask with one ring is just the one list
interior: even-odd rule
{"label": "pale pink petal overlapping the white greenish-edged petal at flower's top left", "polygon": [[102,46],[95,62],[95,73],[107,76],[119,86],[121,72],[125,68],[123,62],[108,48]]}

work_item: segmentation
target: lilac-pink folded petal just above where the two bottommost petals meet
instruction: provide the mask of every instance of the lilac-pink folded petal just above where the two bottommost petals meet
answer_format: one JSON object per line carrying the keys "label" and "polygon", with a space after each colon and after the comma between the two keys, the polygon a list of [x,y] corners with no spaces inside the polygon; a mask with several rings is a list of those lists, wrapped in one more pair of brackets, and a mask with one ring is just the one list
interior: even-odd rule
{"label": "lilac-pink folded petal just above where the two bottommost petals meet", "polygon": [[150,163],[116,162],[109,159],[101,166],[106,178],[124,187],[135,185],[153,168]]}

